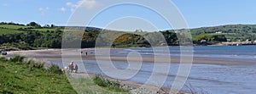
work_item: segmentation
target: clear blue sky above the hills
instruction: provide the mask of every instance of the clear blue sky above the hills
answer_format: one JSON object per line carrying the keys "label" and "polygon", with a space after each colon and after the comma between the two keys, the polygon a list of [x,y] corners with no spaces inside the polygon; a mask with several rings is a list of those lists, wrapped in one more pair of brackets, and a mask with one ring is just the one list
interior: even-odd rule
{"label": "clear blue sky above the hills", "polygon": [[[81,6],[84,6],[86,14],[93,13],[96,8],[108,7],[107,0],[0,0],[0,21],[12,21],[20,24],[35,21],[40,25],[67,25],[68,19],[82,1],[84,4]],[[150,3],[150,0],[147,1]],[[183,14],[189,28],[230,24],[256,24],[255,0],[172,0],[172,3]],[[162,6],[163,4],[161,2],[154,3],[155,6]],[[143,14],[140,15],[140,13]],[[123,16],[134,17],[123,18],[124,20],[119,19],[114,23],[110,23],[114,21],[114,17],[121,18]],[[141,21],[133,24],[127,23],[126,25],[131,26],[126,26],[126,28],[119,24],[125,23],[127,20],[136,19],[141,19]],[[147,28],[150,27],[149,22],[151,22],[151,25],[152,23],[154,24],[154,26],[151,26],[152,28]],[[154,30],[156,28],[156,30],[170,29],[165,24],[165,20],[160,19],[159,15],[147,11],[145,8],[128,5],[107,9],[100,16],[97,16],[90,25],[117,30],[119,30],[119,27],[122,27],[123,30],[134,30],[140,27],[142,29],[145,28],[145,30]]]}

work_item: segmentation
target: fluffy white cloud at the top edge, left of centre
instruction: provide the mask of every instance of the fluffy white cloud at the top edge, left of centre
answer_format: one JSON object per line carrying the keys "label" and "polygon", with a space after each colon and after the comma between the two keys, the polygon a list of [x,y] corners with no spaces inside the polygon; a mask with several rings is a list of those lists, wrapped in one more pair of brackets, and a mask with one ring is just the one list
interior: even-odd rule
{"label": "fluffy white cloud at the top edge, left of centre", "polygon": [[100,4],[96,0],[79,0],[77,3],[66,3],[67,7],[73,12],[78,7],[84,7],[87,9],[92,9],[98,7]]}

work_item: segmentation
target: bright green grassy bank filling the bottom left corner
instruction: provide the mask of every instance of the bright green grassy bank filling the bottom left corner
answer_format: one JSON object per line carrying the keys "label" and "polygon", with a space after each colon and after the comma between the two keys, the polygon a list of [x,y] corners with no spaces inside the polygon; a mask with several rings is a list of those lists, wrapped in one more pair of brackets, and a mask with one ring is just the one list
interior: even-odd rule
{"label": "bright green grassy bank filling the bottom left corner", "polygon": [[45,69],[44,64],[23,59],[20,56],[9,60],[0,58],[0,93],[77,93],[58,67]]}

